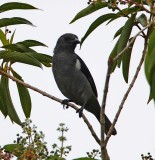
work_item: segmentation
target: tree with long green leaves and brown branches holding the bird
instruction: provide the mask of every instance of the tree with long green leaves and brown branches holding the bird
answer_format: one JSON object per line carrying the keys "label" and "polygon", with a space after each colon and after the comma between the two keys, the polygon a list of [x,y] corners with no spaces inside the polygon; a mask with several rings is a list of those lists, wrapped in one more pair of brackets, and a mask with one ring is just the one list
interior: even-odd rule
{"label": "tree with long green leaves and brown branches holding the bird", "polygon": [[[143,63],[145,63],[145,74],[146,78],[148,80],[148,83],[150,85],[150,95],[148,102],[151,100],[154,100],[155,98],[155,87],[154,87],[154,38],[155,38],[155,31],[154,31],[154,1],[102,1],[102,0],[96,0],[96,1],[89,1],[89,6],[80,11],[75,18],[71,21],[71,23],[75,22],[76,20],[87,16],[89,14],[92,14],[93,12],[109,8],[109,13],[104,14],[97,18],[89,27],[86,34],[83,36],[81,40],[81,45],[86,40],[86,38],[89,36],[89,34],[94,31],[99,25],[101,25],[104,22],[107,22],[107,24],[111,23],[112,21],[116,21],[121,17],[126,17],[126,22],[123,24],[123,26],[116,32],[114,35],[114,39],[118,38],[117,43],[113,50],[111,51],[108,59],[108,69],[107,69],[107,76],[106,76],[106,83],[105,83],[105,89],[104,89],[104,95],[103,95],[103,103],[102,103],[102,112],[101,115],[104,115],[105,107],[106,107],[106,99],[107,99],[107,93],[109,88],[109,82],[111,74],[115,72],[116,67],[122,67],[122,74],[124,77],[124,80],[126,83],[128,83],[128,77],[129,77],[129,68],[130,68],[130,59],[132,55],[132,48],[135,45],[135,42],[137,40],[137,37],[142,37],[144,40],[144,49],[142,53],[142,57],[139,61],[137,70],[135,72],[135,75],[133,77],[133,80],[129,84],[129,88],[127,89],[126,93],[124,94],[124,97],[122,98],[122,101],[120,103],[118,112],[116,113],[115,119],[113,121],[113,124],[111,126],[111,129],[109,130],[108,135],[104,136],[104,116],[101,116],[101,141],[95,134],[95,131],[91,128],[91,125],[89,121],[86,119],[86,117],[83,115],[83,118],[88,125],[88,128],[92,132],[92,135],[94,136],[97,143],[101,146],[102,151],[102,159],[107,159],[107,152],[106,152],[106,145],[108,143],[109,138],[111,137],[111,133],[113,130],[113,127],[115,126],[119,115],[121,113],[121,110],[123,109],[124,103],[137,79],[137,76],[139,74],[139,71],[141,69],[141,66]],[[9,4],[2,5],[2,11],[7,11],[9,9],[18,9],[19,3],[14,3],[14,5],[11,5],[9,7]],[[36,9],[35,7],[28,5],[28,4],[22,4],[26,9]],[[22,6],[20,5],[20,6]],[[7,7],[6,7],[7,6]],[[13,7],[12,7],[13,6]],[[17,7],[18,6],[18,7]],[[4,9],[7,8],[7,9]],[[9,8],[9,9],[8,9]],[[24,9],[24,8],[22,8]],[[12,18],[12,19],[2,19],[1,20],[2,25],[0,27],[9,26],[13,24],[31,24],[31,22],[22,19],[22,18]],[[132,30],[137,27],[139,31],[134,36],[131,36]],[[147,30],[147,31],[146,31]],[[12,64],[15,62],[22,62],[26,64],[31,64],[37,67],[41,67],[41,64],[45,66],[50,66],[51,63],[51,57],[43,55],[43,54],[36,54],[34,50],[32,50],[30,47],[34,45],[42,45],[44,44],[38,42],[38,41],[24,41],[24,42],[18,42],[16,44],[12,44],[12,39],[14,36],[14,33],[12,34],[12,37],[10,41],[7,41],[6,35],[8,34],[8,30],[5,30],[5,32],[2,31],[2,36],[4,38],[1,38],[1,41],[3,43],[3,48],[5,50],[1,51],[1,59],[3,59],[2,63],[2,69],[0,70],[0,73],[3,75],[1,77],[1,90],[4,93],[0,97],[2,97],[0,100],[1,103],[1,111],[4,114],[4,116],[8,115],[12,121],[21,124],[18,115],[15,112],[14,106],[11,102],[10,93],[8,90],[8,78],[14,80],[17,82],[18,91],[21,97],[21,104],[23,106],[23,111],[26,115],[26,117],[30,116],[30,110],[31,110],[31,100],[28,93],[27,88],[33,89],[44,96],[47,96],[53,100],[56,100],[58,102],[62,102],[62,100],[51,96],[29,84],[25,84],[23,81],[21,81],[21,77],[11,68]],[[28,42],[28,45],[27,45]],[[33,44],[29,45],[29,43],[33,42]],[[22,53],[22,56],[20,53]],[[29,56],[27,56],[27,54]],[[24,57],[25,56],[25,57]],[[44,59],[44,58],[45,59]],[[42,61],[44,59],[44,61]],[[12,72],[13,76],[9,75],[8,73]],[[8,78],[6,78],[8,77]],[[22,99],[23,96],[21,95],[23,92],[25,92],[26,100]],[[4,101],[4,96],[9,97],[7,101]],[[29,102],[29,104],[25,101]],[[26,106],[28,105],[28,106]],[[7,106],[7,110],[6,107]],[[69,106],[73,107],[74,109],[78,109],[75,105],[69,103]]]}

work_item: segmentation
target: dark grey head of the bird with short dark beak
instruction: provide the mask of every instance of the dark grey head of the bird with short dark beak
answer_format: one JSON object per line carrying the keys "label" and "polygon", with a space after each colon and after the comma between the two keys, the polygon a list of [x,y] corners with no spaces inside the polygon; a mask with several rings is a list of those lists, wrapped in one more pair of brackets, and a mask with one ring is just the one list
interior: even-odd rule
{"label": "dark grey head of the bird with short dark beak", "polygon": [[75,34],[66,33],[60,36],[57,41],[56,47],[54,49],[54,53],[57,51],[70,51],[73,52],[76,45],[79,44],[80,41]]}

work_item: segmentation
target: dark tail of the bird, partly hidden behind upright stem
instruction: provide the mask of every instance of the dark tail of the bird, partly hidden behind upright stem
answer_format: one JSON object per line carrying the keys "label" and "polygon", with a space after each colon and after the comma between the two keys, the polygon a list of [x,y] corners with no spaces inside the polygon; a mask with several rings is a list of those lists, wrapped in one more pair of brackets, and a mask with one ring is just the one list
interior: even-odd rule
{"label": "dark tail of the bird, partly hidden behind upright stem", "polygon": [[[92,105],[93,104],[93,105]],[[98,121],[100,122],[100,111],[101,111],[101,107],[99,105],[99,102],[98,100],[93,100],[93,102],[89,103],[89,104],[86,104],[85,105],[85,109],[89,112],[91,112],[92,114],[95,115],[95,117],[98,119]],[[105,115],[105,134],[108,133],[109,129],[110,129],[110,126],[111,126],[111,122],[109,120],[109,118]],[[117,134],[117,131],[116,129],[114,128],[113,131],[112,131],[112,135],[116,135]]]}

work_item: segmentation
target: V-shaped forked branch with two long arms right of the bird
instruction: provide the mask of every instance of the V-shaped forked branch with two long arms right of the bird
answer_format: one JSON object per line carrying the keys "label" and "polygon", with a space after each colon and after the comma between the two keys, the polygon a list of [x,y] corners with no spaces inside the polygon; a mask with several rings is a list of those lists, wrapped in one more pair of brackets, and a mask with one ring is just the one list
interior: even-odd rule
{"label": "V-shaped forked branch with two long arms right of the bird", "polygon": [[[109,81],[110,81],[110,75],[111,75],[111,67],[112,67],[112,64],[117,61],[121,56],[122,54],[130,47],[130,45],[132,43],[134,43],[135,39],[137,38],[137,36],[139,36],[141,33],[144,33],[144,30],[149,28],[151,25],[152,25],[153,22],[150,22],[146,27],[144,27],[143,29],[141,29],[132,39],[131,41],[128,43],[128,45],[120,52],[117,54],[117,56],[112,60],[112,59],[109,59],[108,60],[108,69],[107,69],[107,75],[106,75],[106,81],[105,81],[105,87],[104,87],[104,95],[103,95],[103,101],[102,101],[102,106],[101,106],[101,117],[100,117],[100,121],[101,121],[101,155],[102,155],[102,160],[106,159],[106,145],[108,143],[108,140],[109,138],[111,137],[112,135],[112,131],[115,127],[115,124],[117,122],[117,119],[120,115],[120,112],[123,108],[123,105],[128,97],[128,94],[130,93],[136,79],[137,79],[137,76],[139,74],[139,71],[141,69],[141,66],[143,64],[143,61],[144,61],[144,57],[145,57],[145,54],[146,54],[146,49],[147,49],[147,43],[145,43],[145,48],[144,48],[144,51],[143,51],[143,55],[142,55],[142,58],[140,60],[140,63],[137,67],[137,71],[135,73],[135,76],[133,77],[133,80],[131,82],[131,84],[129,85],[129,88],[127,90],[127,92],[125,93],[124,97],[123,97],[123,100],[119,106],[119,110],[118,112],[116,113],[116,116],[115,116],[115,119],[109,129],[109,132],[106,136],[106,139],[104,138],[104,131],[105,131],[105,120],[104,120],[104,113],[105,113],[105,106],[106,106],[106,99],[107,99],[107,93],[108,93],[108,88],[109,88]],[[145,42],[147,41],[147,37],[145,36]]]}

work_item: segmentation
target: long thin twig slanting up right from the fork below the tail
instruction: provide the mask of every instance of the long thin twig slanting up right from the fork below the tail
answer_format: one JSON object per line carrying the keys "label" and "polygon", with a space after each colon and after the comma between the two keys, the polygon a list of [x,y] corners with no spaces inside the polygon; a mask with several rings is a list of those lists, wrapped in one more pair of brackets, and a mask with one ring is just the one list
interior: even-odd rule
{"label": "long thin twig slanting up right from the fork below the tail", "polygon": [[142,57],[141,57],[141,59],[140,59],[139,65],[138,65],[138,67],[137,67],[136,73],[135,73],[135,75],[134,75],[134,77],[133,77],[133,79],[132,79],[132,81],[131,81],[131,83],[130,83],[130,85],[129,85],[129,87],[128,87],[128,89],[127,89],[127,91],[126,91],[126,93],[125,93],[125,95],[124,95],[124,97],[123,97],[123,99],[122,99],[122,101],[121,101],[121,104],[120,104],[120,106],[119,106],[119,108],[118,108],[118,111],[117,111],[117,113],[116,113],[116,115],[115,115],[114,121],[113,121],[113,123],[112,123],[112,125],[111,125],[111,127],[110,127],[110,129],[109,129],[109,132],[108,132],[108,134],[107,134],[107,136],[106,136],[106,139],[105,139],[105,141],[104,141],[104,146],[107,145],[108,140],[109,140],[109,138],[110,138],[111,135],[112,135],[112,131],[113,131],[114,127],[115,127],[115,124],[116,124],[116,122],[117,122],[117,120],[118,120],[118,117],[119,117],[119,115],[120,115],[120,113],[121,113],[121,110],[123,109],[124,103],[125,103],[128,95],[129,95],[132,87],[134,86],[137,77],[138,77],[138,74],[139,74],[139,72],[140,72],[140,69],[141,69],[141,67],[142,67],[142,64],[143,64],[143,62],[144,62],[145,55],[146,55],[146,52],[147,52],[147,39],[148,39],[148,37],[145,39],[143,54],[142,54]]}

